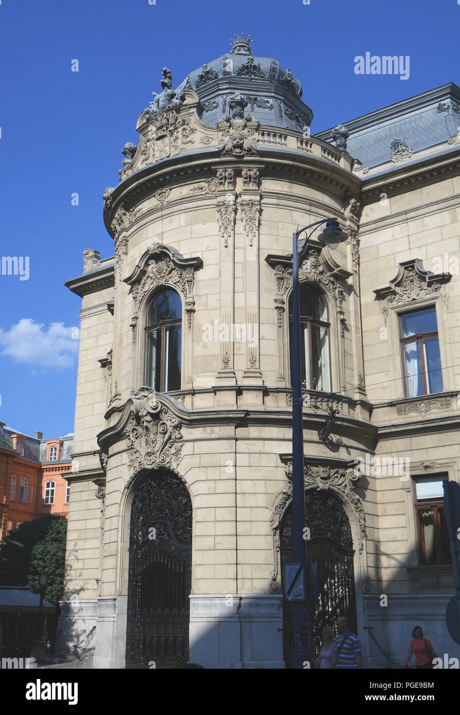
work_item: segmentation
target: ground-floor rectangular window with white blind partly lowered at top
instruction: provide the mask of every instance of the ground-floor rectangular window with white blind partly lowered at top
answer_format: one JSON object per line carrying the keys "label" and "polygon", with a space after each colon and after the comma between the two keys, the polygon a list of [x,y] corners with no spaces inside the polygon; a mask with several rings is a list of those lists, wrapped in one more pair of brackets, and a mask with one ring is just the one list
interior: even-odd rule
{"label": "ground-floor rectangular window with white blind partly lowered at top", "polygon": [[444,514],[444,479],[445,475],[436,475],[414,480],[419,555],[423,566],[452,563]]}

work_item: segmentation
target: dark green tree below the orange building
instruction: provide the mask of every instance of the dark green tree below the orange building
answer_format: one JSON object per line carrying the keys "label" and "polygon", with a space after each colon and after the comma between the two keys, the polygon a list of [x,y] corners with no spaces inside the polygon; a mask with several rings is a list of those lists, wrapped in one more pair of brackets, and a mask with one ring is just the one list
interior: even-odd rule
{"label": "dark green tree below the orange building", "polygon": [[27,586],[39,593],[39,573],[49,578],[44,598],[57,604],[62,598],[67,519],[47,515],[24,521],[0,546],[0,583]]}

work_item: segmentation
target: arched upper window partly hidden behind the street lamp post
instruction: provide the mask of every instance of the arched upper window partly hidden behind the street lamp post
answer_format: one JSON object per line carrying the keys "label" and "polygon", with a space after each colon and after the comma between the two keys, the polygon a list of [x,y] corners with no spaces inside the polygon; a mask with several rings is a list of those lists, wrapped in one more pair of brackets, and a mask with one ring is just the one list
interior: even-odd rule
{"label": "arched upper window partly hidden behind the street lamp post", "polygon": [[[289,299],[289,315],[292,355],[292,297]],[[305,283],[300,283],[300,350],[303,389],[330,392],[328,310],[318,290]]]}

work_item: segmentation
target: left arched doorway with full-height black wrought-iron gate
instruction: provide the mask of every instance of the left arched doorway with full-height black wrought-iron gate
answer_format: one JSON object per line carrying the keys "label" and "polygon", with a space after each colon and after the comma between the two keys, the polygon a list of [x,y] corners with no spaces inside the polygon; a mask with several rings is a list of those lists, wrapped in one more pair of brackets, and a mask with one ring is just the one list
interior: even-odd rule
{"label": "left arched doorway with full-height black wrought-iron gate", "polygon": [[192,502],[182,480],[166,470],[147,475],[134,494],[128,579],[126,667],[186,663]]}

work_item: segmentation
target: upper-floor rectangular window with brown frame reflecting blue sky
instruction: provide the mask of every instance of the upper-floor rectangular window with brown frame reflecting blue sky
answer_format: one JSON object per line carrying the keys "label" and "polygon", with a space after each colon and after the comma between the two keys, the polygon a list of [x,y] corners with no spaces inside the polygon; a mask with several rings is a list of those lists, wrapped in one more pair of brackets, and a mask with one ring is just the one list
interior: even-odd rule
{"label": "upper-floor rectangular window with brown frame reflecting blue sky", "polygon": [[399,321],[406,397],[441,393],[442,371],[436,308],[403,313]]}

